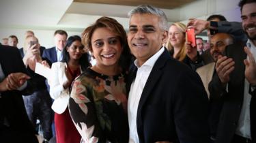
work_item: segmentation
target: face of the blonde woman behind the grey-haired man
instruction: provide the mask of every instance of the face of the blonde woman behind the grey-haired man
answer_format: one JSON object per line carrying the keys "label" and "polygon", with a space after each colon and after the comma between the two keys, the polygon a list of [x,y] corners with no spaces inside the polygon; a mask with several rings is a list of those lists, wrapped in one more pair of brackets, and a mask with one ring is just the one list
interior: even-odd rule
{"label": "face of the blonde woman behind the grey-haired man", "polygon": [[169,28],[169,42],[173,47],[180,47],[185,42],[185,35],[175,25]]}

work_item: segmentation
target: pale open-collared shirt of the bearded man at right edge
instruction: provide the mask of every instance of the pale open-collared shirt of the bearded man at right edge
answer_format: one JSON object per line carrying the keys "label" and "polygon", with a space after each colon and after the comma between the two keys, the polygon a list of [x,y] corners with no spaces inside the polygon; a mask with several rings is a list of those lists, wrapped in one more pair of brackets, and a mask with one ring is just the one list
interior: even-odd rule
{"label": "pale open-collared shirt of the bearded man at right edge", "polygon": [[[250,39],[248,39],[248,42],[246,43],[247,47],[251,52],[253,53],[254,59],[256,59],[256,47],[251,42]],[[248,56],[247,56],[248,59]],[[236,129],[236,134],[239,136],[242,136],[244,138],[250,138],[251,139],[251,122],[250,122],[250,102],[251,102],[251,95],[248,93],[250,84],[249,82],[244,79],[244,100],[242,103],[242,110],[240,113],[240,118],[238,121],[238,127]]]}

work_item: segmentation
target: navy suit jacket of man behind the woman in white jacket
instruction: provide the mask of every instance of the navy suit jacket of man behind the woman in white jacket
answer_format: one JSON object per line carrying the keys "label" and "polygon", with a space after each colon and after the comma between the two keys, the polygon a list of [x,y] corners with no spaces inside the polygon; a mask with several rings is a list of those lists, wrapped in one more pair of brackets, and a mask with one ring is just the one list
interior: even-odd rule
{"label": "navy suit jacket of man behind the woman in white jacket", "polygon": [[52,47],[52,48],[45,49],[43,54],[42,54],[42,58],[45,58],[46,61],[49,63],[49,65],[51,65],[52,63],[57,62],[56,48]]}

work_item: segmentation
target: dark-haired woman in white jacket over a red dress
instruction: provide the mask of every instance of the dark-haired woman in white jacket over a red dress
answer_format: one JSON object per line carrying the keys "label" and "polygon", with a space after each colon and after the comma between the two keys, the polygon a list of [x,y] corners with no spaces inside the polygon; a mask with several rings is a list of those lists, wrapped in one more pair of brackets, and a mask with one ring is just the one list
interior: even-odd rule
{"label": "dark-haired woman in white jacket over a red dress", "polygon": [[54,75],[48,82],[50,95],[55,99],[52,109],[55,112],[57,143],[76,143],[81,140],[67,107],[73,80],[89,67],[88,54],[83,54],[83,48],[81,37],[70,36],[62,51],[63,60],[53,63],[51,68]]}

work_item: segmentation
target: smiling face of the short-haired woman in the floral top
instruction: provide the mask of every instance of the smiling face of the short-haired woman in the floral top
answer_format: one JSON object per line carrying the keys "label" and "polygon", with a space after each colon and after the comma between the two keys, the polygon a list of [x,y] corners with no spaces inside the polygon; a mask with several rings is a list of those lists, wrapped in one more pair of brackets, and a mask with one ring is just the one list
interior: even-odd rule
{"label": "smiling face of the short-haired woman in the floral top", "polygon": [[122,46],[117,34],[107,28],[98,28],[91,36],[92,54],[98,67],[118,66]]}

